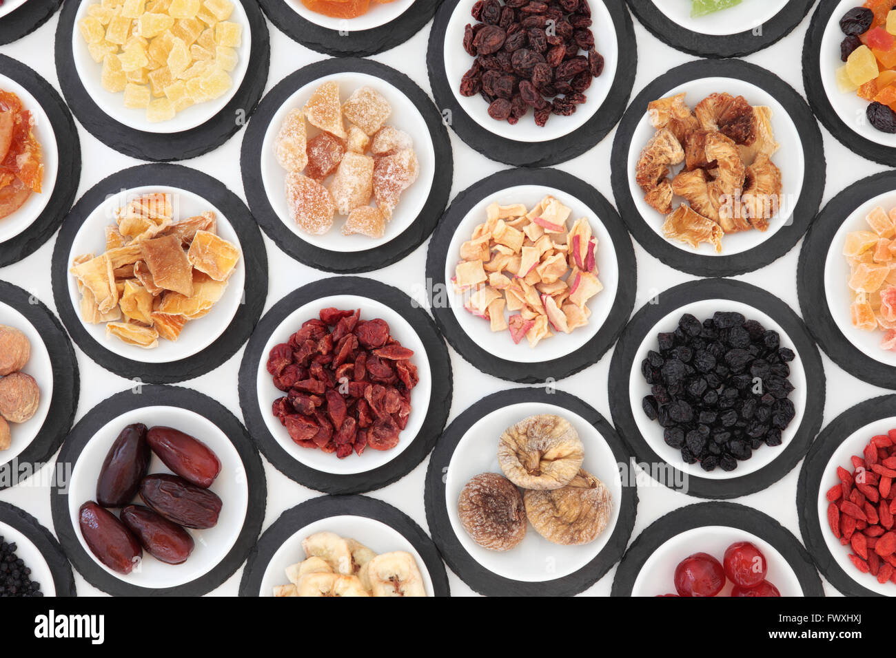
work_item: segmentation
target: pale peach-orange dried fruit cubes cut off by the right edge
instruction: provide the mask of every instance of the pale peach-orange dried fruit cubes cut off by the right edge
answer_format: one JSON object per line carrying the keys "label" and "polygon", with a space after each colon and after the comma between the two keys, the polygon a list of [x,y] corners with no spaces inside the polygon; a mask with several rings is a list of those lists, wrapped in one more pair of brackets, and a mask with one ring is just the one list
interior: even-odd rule
{"label": "pale peach-orange dried fruit cubes cut off by the right edge", "polygon": [[870,231],[849,233],[843,243],[849,262],[849,315],[856,329],[883,330],[881,349],[896,350],[896,208],[887,213],[878,206],[866,222]]}

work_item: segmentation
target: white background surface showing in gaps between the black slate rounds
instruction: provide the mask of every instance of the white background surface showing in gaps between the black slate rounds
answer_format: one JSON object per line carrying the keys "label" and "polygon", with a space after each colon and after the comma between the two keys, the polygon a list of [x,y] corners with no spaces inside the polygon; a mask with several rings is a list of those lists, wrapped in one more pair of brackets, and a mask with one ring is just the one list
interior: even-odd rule
{"label": "white background surface showing in gaps between the black slate rounds", "polygon": [[[803,38],[805,37],[811,15],[812,13],[806,16],[800,25],[797,26],[797,29],[791,32],[788,37],[759,53],[745,58],[747,61],[759,64],[777,73],[801,94],[804,93],[800,64]],[[668,68],[691,61],[694,57],[661,43],[642,28],[636,19],[633,20],[635,36],[638,42],[638,71],[634,83],[634,95],[659,76],[659,74],[665,73]],[[57,17],[54,16],[47,24],[28,37],[22,38],[13,44],[0,47],[0,53],[12,56],[30,65],[58,90],[56,68],[54,66],[52,49],[49,47],[54,41],[56,23]],[[372,59],[383,62],[383,64],[389,64],[407,73],[427,93],[430,92],[430,86],[426,73],[425,53],[431,25],[432,23],[430,22],[423,30],[409,38],[400,47],[372,57]],[[272,56],[271,73],[266,90],[270,90],[278,81],[297,68],[325,58],[325,56],[319,53],[299,46],[292,39],[276,30],[270,22],[268,23],[268,28],[271,32]],[[598,47],[600,47],[599,44]],[[459,55],[461,52],[461,45],[458,44]],[[529,120],[530,118],[528,117]],[[125,167],[140,164],[138,160],[128,158],[109,149],[83,130],[80,124],[78,132],[81,137],[83,158],[82,179],[78,191],[79,197],[107,175]],[[827,186],[823,202],[829,201],[834,194],[840,192],[840,190],[854,183],[859,178],[881,172],[886,168],[850,153],[840,142],[833,139],[831,134],[824,128],[822,128],[822,133],[828,163]],[[237,195],[245,199],[239,172],[239,150],[244,134],[245,131],[238,132],[237,135],[218,150],[200,158],[187,160],[183,164],[214,175],[226,184],[228,188],[236,192]],[[612,201],[609,158],[615,134],[616,131],[610,132],[598,146],[579,158],[574,158],[558,165],[557,168],[580,176]],[[451,141],[454,152],[452,198],[458,192],[470,186],[470,184],[474,184],[485,176],[506,168],[506,166],[489,160],[470,149],[453,132],[451,133]],[[13,284],[29,290],[30,293],[38,295],[47,306],[55,310],[49,275],[50,256],[54,242],[55,238],[24,261],[0,269],[0,278],[11,281]],[[297,286],[302,286],[325,276],[320,271],[293,261],[289,256],[280,252],[267,236],[264,237],[264,242],[268,251],[270,275],[265,311]],[[801,244],[797,244],[793,251],[770,266],[737,278],[756,286],[770,289],[799,312],[796,278],[797,256]],[[425,277],[424,266],[427,246],[428,242],[403,261],[388,268],[372,272],[367,276],[377,278],[393,286],[403,287],[404,289],[407,289],[411,281],[422,284]],[[635,303],[635,309],[640,308],[643,303],[646,303],[652,295],[656,295],[659,291],[694,279],[690,275],[683,274],[661,264],[645,252],[640,245],[635,243],[634,246],[638,259],[638,299]],[[122,379],[92,363],[77,347],[76,351],[82,382],[81,399],[76,415],[76,420],[79,420],[91,407],[122,389],[130,388],[131,384],[129,380]],[[590,405],[595,406],[607,419],[610,419],[607,404],[607,370],[611,354],[608,353],[599,363],[583,372],[579,372],[573,377],[557,382],[556,385],[558,389],[563,389],[582,397]],[[200,390],[219,399],[222,404],[228,406],[237,416],[242,417],[237,400],[237,370],[242,356],[243,350],[241,349],[237,355],[231,357],[227,363],[224,363],[217,370],[198,379],[183,383],[185,386]],[[823,361],[828,382],[827,402],[824,411],[825,424],[829,423],[836,415],[849,406],[853,406],[868,397],[875,397],[888,392],[856,380],[831,363],[827,356],[823,355]],[[453,350],[452,368],[454,372],[454,397],[449,421],[461,414],[464,409],[476,402],[480,397],[515,386],[504,380],[498,380],[478,372],[473,365],[464,361]],[[428,458],[401,481],[393,483],[384,489],[373,491],[369,495],[385,500],[400,508],[426,529],[426,514],[423,507],[422,493],[427,463]],[[797,468],[785,476],[779,483],[774,484],[765,491],[745,496],[736,501],[759,508],[766,514],[777,518],[799,537],[796,491],[797,476],[801,464],[797,465]],[[52,464],[46,466],[44,472],[37,474],[37,478],[43,476],[43,480],[48,481],[49,474],[47,471],[51,468]],[[306,489],[289,480],[288,477],[280,474],[279,471],[266,462],[265,473],[268,479],[268,500],[264,529],[270,526],[285,509],[291,508],[303,500],[320,495],[316,491]],[[691,503],[701,502],[699,499],[669,491],[659,485],[641,487],[638,491],[638,496],[641,503],[638,507],[638,517],[634,527],[633,538],[637,537],[651,522],[668,511]],[[5,500],[28,510],[30,514],[38,517],[42,524],[52,529],[53,521],[50,515],[49,490],[46,486],[36,486],[26,482],[12,489],[0,491],[0,500]],[[615,571],[615,568],[611,569],[607,576],[603,577],[596,585],[590,587],[585,594],[609,594]],[[237,594],[241,575],[242,568],[238,569],[233,577],[230,577],[226,583],[212,594]],[[86,583],[77,571],[75,571],[75,579],[77,581],[78,594],[102,594],[96,588]],[[470,587],[452,574],[451,571],[449,571],[449,579],[451,581],[452,594],[473,594]],[[825,584],[825,591],[827,594],[837,594],[827,584]]]}

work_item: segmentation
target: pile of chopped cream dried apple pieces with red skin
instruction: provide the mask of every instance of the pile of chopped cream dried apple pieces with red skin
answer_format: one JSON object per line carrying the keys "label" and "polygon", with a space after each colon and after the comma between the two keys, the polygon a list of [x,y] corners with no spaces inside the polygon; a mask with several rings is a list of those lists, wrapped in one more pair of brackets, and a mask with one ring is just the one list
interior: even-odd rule
{"label": "pile of chopped cream dried apple pieces with red skin", "polygon": [[455,293],[467,296],[464,308],[530,347],[554,331],[587,325],[588,302],[603,290],[598,239],[586,218],[567,228],[571,213],[551,196],[530,210],[522,203],[488,206],[487,221],[461,244],[452,278]]}

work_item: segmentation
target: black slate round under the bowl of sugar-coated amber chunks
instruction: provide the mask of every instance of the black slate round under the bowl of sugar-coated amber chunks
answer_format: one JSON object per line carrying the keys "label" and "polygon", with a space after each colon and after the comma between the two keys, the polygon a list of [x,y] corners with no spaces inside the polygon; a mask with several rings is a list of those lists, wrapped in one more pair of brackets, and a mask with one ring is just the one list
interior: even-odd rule
{"label": "black slate round under the bowl of sugar-coated amber chunks", "polygon": [[[417,0],[420,2],[420,0]],[[416,4],[416,3],[415,3]],[[290,10],[291,11],[291,10]],[[366,73],[389,82],[409,98],[429,128],[429,135],[435,150],[435,173],[433,184],[416,219],[401,235],[385,244],[362,252],[333,252],[307,243],[296,235],[285,222],[290,218],[280,218],[271,207],[262,179],[262,149],[264,135],[271,121],[283,103],[297,90],[309,82],[322,80],[335,73]],[[323,80],[322,80],[323,81]],[[401,126],[399,126],[401,128]],[[279,130],[279,126],[277,127]],[[243,189],[254,217],[264,232],[297,261],[306,265],[341,274],[357,274],[380,269],[393,262],[401,261],[426,241],[433,232],[439,214],[444,210],[452,185],[452,150],[448,131],[442,123],[442,115],[414,81],[390,66],[368,59],[331,58],[308,64],[295,73],[290,73],[262,99],[252,121],[246,128],[243,148],[240,153],[240,167],[243,174]],[[282,193],[282,192],[280,192]],[[401,211],[401,205],[399,206]],[[332,228],[331,230],[337,230]]]}

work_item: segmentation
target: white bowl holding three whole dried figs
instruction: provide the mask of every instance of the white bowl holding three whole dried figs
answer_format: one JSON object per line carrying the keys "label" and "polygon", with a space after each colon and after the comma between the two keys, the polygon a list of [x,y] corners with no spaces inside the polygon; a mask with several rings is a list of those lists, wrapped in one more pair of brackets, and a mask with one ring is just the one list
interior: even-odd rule
{"label": "white bowl holding three whole dried figs", "polygon": [[[498,465],[497,449],[501,434],[508,427],[535,414],[555,414],[572,423],[585,446],[582,468],[607,485],[613,509],[606,529],[591,543],[564,546],[548,542],[531,524],[522,542],[510,551],[490,551],[475,543],[461,526],[457,503],[463,487],[470,478],[480,473],[503,474]],[[600,432],[582,416],[562,406],[544,403],[520,403],[505,406],[487,414],[474,423],[454,449],[445,481],[445,506],[454,534],[464,550],[484,568],[498,576],[537,583],[568,576],[585,567],[607,545],[622,500],[622,479],[613,450]]]}

